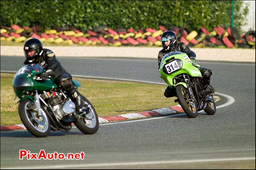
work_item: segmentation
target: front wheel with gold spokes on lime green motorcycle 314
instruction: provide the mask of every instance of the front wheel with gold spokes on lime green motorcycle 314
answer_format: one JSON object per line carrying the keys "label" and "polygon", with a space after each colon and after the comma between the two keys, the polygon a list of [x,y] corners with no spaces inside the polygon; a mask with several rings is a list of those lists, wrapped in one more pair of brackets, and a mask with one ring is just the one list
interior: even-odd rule
{"label": "front wheel with gold spokes on lime green motorcycle 314", "polygon": [[[188,117],[195,118],[197,116],[197,105],[195,102],[193,102],[190,99],[188,95],[188,90],[183,85],[177,85],[176,95],[178,97],[180,106],[182,107],[184,112],[188,115]],[[196,100],[194,99],[194,101]]]}

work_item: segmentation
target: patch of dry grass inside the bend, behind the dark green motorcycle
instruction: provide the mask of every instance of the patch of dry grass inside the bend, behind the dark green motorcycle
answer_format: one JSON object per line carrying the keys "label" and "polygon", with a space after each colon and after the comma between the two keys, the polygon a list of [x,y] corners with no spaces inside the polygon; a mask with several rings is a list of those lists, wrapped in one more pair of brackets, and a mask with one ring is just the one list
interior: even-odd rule
{"label": "patch of dry grass inside the bend, behind the dark green motorcycle", "polygon": [[[14,74],[1,73],[1,125],[20,124],[18,105],[12,89]],[[175,98],[165,98],[167,85],[127,81],[73,78],[82,85],[78,91],[94,106],[98,116],[137,113],[177,105]]]}

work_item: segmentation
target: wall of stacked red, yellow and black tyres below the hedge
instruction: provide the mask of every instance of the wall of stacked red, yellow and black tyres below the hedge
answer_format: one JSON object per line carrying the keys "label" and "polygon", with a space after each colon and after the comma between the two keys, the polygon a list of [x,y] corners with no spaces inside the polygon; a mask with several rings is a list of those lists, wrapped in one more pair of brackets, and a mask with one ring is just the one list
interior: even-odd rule
{"label": "wall of stacked red, yellow and black tyres below the hedge", "polygon": [[[255,48],[255,31],[248,31],[240,35],[236,27],[214,27],[209,32],[204,26],[200,30],[190,31],[186,26],[168,26],[176,33],[177,39],[189,47],[218,47],[218,48]],[[132,28],[112,29],[107,26],[98,26],[93,30],[78,30],[75,27],[60,27],[40,31],[39,26],[22,27],[18,25],[1,26],[1,41],[24,42],[29,38],[37,38],[42,42],[56,44],[80,45],[147,45],[160,46],[161,35],[167,31],[164,26],[158,30],[152,28],[134,30]]]}

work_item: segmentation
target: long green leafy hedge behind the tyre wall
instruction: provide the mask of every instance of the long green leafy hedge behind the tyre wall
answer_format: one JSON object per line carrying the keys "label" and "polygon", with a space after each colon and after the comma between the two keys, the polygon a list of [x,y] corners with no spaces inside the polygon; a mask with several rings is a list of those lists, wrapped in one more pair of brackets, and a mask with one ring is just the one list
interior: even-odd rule
{"label": "long green leafy hedge behind the tyre wall", "polygon": [[[235,1],[234,26],[240,31],[248,6]],[[44,29],[97,26],[158,29],[159,25],[187,26],[208,31],[231,24],[232,1],[1,1],[1,26],[40,26]]]}

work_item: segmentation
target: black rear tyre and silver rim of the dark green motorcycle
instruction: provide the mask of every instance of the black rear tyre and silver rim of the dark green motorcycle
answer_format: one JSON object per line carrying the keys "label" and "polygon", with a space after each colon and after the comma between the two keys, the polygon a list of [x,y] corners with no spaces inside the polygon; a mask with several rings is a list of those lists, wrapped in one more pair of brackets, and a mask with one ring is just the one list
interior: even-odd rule
{"label": "black rear tyre and silver rim of the dark green motorcycle", "polygon": [[[85,121],[87,119],[84,119],[84,118],[77,119],[74,122],[74,124],[76,125],[77,129],[79,129],[81,132],[83,132],[85,134],[94,134],[99,129],[98,115],[97,115],[94,107],[90,103],[90,101],[87,100],[84,96],[82,96],[82,97],[85,100],[85,105],[87,105],[87,106],[90,105],[91,112],[88,114],[92,114],[92,120],[90,121],[91,125],[89,125],[89,122]],[[84,117],[84,115],[83,115],[83,117]]]}

